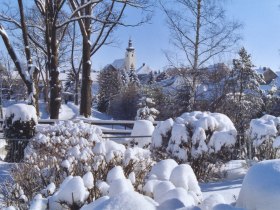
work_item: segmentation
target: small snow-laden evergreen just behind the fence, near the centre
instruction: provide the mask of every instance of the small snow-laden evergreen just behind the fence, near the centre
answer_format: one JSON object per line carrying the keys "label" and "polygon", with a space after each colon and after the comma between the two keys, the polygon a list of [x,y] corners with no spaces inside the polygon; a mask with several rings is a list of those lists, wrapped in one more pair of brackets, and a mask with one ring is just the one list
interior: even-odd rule
{"label": "small snow-laden evergreen just behind the fence, near the centre", "polygon": [[155,121],[159,114],[159,111],[154,108],[155,102],[152,98],[142,97],[138,104],[138,110],[135,119],[136,120],[150,120]]}

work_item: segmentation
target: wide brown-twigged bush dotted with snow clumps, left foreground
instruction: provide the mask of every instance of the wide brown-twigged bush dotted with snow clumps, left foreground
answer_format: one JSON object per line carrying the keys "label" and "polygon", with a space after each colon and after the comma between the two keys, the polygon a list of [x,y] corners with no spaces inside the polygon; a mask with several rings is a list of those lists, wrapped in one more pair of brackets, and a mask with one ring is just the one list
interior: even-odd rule
{"label": "wide brown-twigged bush dotted with snow clumps, left foreground", "polygon": [[[35,202],[35,207],[38,202],[53,202],[51,209],[57,209],[57,205],[75,209],[101,196],[118,193],[118,188],[127,186],[127,182],[131,182],[131,188],[141,189],[152,164],[150,151],[126,148],[102,139],[101,135],[100,128],[82,121],[37,127],[37,134],[25,149],[24,162],[11,172],[25,201],[34,198],[29,204]],[[126,181],[115,181],[114,177],[125,177]],[[17,204],[15,190],[9,189],[6,203]]]}

